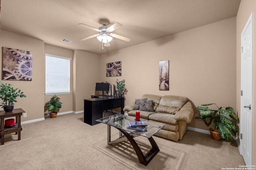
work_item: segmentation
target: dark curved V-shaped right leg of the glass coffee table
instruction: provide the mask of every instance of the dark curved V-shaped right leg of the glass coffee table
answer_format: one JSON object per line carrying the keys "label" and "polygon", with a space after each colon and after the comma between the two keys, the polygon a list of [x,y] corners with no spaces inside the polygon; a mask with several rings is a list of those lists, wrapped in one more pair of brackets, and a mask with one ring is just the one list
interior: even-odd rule
{"label": "dark curved V-shaped right leg of the glass coffee table", "polygon": [[[116,128],[118,129],[118,128]],[[134,136],[130,135],[130,133],[122,130],[122,129],[118,129],[119,131],[121,131],[125,137],[128,139],[128,141],[132,144],[132,147],[134,148],[138,159],[140,161],[141,164],[147,166],[148,163],[154,158],[154,156],[156,156],[156,154],[160,151],[158,146],[156,145],[156,142],[154,141],[154,139],[152,137],[148,138],[148,140],[150,141],[150,144],[152,146],[152,149],[150,149],[145,155],[142,153],[140,147],[138,146],[138,144],[136,143],[136,141],[134,141]]]}

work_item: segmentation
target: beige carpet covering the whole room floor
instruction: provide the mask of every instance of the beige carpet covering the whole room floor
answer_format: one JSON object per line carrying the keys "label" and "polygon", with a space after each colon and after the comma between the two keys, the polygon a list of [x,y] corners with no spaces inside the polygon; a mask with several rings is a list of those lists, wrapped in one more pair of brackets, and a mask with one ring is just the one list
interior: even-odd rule
{"label": "beige carpet covering the whole room floor", "polygon": [[[118,130],[112,128],[112,138]],[[107,145],[107,126],[90,126],[83,113],[58,115],[22,125],[18,135],[5,135],[0,145],[1,170],[212,170],[245,165],[234,141],[211,139],[210,135],[187,131],[181,141],[153,137],[160,152],[144,166],[128,141]],[[135,138],[143,152],[144,137]]]}

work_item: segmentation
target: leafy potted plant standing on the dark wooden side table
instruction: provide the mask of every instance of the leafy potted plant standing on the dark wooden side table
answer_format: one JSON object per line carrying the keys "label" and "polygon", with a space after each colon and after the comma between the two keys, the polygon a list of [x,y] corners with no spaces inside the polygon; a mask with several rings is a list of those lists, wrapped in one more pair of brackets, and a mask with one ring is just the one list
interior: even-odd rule
{"label": "leafy potted plant standing on the dark wooden side table", "polygon": [[9,112],[14,108],[14,102],[17,102],[16,98],[26,98],[27,96],[21,92],[18,88],[13,88],[11,84],[0,84],[0,99],[2,99],[1,105],[4,111]]}

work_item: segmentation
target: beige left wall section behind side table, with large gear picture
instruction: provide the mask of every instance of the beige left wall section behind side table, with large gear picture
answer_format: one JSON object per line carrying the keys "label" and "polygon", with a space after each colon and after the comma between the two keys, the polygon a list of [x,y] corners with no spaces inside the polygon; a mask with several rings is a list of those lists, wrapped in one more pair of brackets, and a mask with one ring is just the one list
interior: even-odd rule
{"label": "beige left wall section behind side table, with large gear picture", "polygon": [[[44,41],[25,37],[22,35],[0,30],[0,46],[31,51],[32,56],[32,81],[1,80],[10,83],[14,88],[20,88],[27,98],[18,98],[14,108],[22,108],[27,117],[21,121],[41,119],[44,117]],[[2,59],[1,59],[2,65]],[[2,69],[1,69],[2,70]],[[2,79],[2,71],[1,71]],[[1,108],[2,110],[2,108]]]}

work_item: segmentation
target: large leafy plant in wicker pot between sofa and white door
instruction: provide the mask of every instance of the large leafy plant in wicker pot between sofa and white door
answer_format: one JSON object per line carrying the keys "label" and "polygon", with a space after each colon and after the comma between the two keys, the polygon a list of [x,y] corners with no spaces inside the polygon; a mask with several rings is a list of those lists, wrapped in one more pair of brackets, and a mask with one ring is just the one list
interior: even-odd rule
{"label": "large leafy plant in wicker pot between sofa and white door", "polygon": [[212,138],[214,138],[216,135],[214,135],[214,132],[219,133],[221,138],[218,138],[217,140],[220,140],[222,138],[225,138],[226,141],[234,140],[233,135],[231,132],[233,132],[235,135],[237,133],[236,125],[234,122],[230,119],[228,119],[225,115],[229,115],[233,120],[237,121],[239,123],[239,119],[235,114],[235,111],[232,107],[218,107],[216,104],[214,104],[218,109],[213,110],[209,109],[208,106],[213,105],[212,104],[202,104],[201,106],[198,106],[197,109],[201,110],[199,115],[195,117],[196,119],[203,119],[204,123],[209,126],[212,121],[214,123],[214,128],[210,128],[210,132],[212,135]]}

